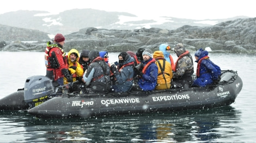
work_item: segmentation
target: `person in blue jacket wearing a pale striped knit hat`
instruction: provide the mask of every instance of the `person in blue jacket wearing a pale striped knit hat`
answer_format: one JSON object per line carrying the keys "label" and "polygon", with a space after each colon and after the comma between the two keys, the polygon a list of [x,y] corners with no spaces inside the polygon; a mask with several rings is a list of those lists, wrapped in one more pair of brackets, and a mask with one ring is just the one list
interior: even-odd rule
{"label": "person in blue jacket wearing a pale striped knit hat", "polygon": [[138,87],[135,87],[135,90],[151,91],[156,87],[158,68],[150,49],[145,49],[142,55],[142,66],[137,66]]}

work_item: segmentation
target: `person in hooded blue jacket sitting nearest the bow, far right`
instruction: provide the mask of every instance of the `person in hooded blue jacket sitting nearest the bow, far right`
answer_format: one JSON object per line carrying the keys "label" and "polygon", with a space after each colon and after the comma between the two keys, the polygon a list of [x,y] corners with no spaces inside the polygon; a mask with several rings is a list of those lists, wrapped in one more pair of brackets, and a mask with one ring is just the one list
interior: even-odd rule
{"label": "person in hooded blue jacket sitting nearest the bow, far right", "polygon": [[221,68],[210,60],[208,51],[200,48],[194,57],[197,62],[197,79],[193,81],[192,87],[205,87],[212,83],[218,83],[221,77]]}

